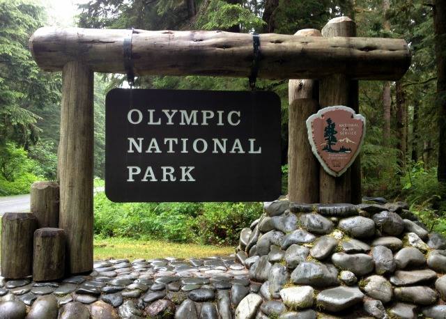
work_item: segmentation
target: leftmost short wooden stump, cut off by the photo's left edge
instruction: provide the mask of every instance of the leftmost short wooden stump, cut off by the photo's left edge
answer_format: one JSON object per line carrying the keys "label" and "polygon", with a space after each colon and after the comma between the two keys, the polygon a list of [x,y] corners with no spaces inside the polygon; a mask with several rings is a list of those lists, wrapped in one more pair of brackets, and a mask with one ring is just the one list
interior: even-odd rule
{"label": "leftmost short wooden stump, cut off by the photo's left edge", "polygon": [[1,276],[23,279],[33,273],[33,234],[37,219],[31,212],[6,212],[1,218]]}

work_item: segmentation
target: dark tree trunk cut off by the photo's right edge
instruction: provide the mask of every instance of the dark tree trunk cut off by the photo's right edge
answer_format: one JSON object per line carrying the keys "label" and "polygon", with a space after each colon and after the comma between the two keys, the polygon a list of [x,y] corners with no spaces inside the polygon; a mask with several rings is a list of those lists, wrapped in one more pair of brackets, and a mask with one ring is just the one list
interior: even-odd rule
{"label": "dark tree trunk cut off by the photo's right edge", "polygon": [[446,183],[446,1],[433,0],[437,64],[438,181]]}

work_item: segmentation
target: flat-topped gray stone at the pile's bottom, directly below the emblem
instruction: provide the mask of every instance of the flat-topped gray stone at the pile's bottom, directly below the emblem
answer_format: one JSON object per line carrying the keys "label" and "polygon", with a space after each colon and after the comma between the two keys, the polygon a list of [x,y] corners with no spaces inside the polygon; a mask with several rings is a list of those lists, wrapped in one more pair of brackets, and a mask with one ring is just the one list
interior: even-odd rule
{"label": "flat-topped gray stone at the pile's bottom, directly below the emblem", "polygon": [[328,311],[341,311],[359,302],[364,294],[357,287],[339,286],[322,290],[317,296],[317,304]]}

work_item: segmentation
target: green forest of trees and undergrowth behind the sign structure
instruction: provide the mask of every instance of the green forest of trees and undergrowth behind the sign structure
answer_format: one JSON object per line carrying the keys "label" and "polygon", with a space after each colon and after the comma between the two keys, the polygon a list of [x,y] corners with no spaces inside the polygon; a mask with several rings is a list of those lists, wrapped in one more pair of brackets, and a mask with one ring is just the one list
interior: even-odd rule
{"label": "green forest of trees and undergrowth behind the sign structure", "polygon": [[[446,40],[444,34],[435,36],[434,10],[436,3],[429,0],[93,0],[79,4],[74,25],[293,34],[321,29],[332,17],[346,15],[355,20],[357,36],[404,38],[413,59],[400,81],[360,81],[360,113],[368,122],[363,194],[408,201],[429,228],[446,233],[446,161],[438,156],[439,149],[445,152],[446,98],[444,88],[437,93],[437,85],[445,86],[437,69]],[[0,196],[25,194],[36,180],[56,179],[61,75],[39,70],[27,47],[33,31],[51,19],[44,0],[0,0]],[[445,21],[443,31],[444,26]],[[444,73],[444,62],[440,68]],[[103,185],[104,176],[105,95],[125,84],[121,75],[95,75],[96,186]],[[135,85],[249,90],[247,79],[222,77],[138,77]],[[257,89],[275,91],[282,100],[286,194],[288,81],[259,80]],[[95,233],[234,244],[261,210],[261,203],[116,204],[98,193]]]}

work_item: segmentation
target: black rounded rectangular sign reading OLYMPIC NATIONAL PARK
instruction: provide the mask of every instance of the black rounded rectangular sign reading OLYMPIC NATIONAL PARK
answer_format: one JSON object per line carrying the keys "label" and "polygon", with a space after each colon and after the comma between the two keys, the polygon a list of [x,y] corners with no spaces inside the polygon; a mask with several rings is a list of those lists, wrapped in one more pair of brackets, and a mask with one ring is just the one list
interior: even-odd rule
{"label": "black rounded rectangular sign reading OLYMPIC NATIONAL PARK", "polygon": [[116,88],[105,117],[111,201],[271,201],[280,194],[275,93]]}

